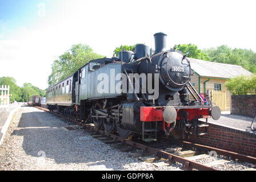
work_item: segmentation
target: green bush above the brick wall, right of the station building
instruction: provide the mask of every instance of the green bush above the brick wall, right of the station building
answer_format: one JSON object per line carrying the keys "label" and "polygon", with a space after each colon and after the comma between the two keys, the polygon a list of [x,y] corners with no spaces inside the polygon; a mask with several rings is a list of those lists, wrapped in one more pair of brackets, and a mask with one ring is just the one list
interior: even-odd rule
{"label": "green bush above the brick wall, right of the station building", "polygon": [[234,95],[256,94],[256,76],[231,78],[225,85]]}

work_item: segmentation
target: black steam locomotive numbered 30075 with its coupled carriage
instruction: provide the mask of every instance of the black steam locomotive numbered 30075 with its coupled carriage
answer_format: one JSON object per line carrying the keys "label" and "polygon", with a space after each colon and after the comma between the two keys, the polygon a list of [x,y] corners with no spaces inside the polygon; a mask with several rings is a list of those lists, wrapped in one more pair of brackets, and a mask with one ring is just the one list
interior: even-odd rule
{"label": "black steam locomotive numbered 30075 with its coupled carriage", "polygon": [[106,133],[156,140],[174,129],[198,133],[198,119],[219,119],[218,106],[203,104],[190,84],[191,67],[186,55],[166,49],[166,34],[154,35],[155,51],[137,44],[135,51],[118,57],[91,60],[77,72],[46,91],[49,110],[75,116]]}

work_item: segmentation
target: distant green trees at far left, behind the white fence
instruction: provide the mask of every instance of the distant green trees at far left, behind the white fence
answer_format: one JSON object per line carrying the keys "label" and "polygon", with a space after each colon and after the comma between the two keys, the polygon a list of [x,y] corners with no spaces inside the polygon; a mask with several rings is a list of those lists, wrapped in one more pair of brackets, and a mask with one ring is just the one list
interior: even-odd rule
{"label": "distant green trees at far left, behind the white fence", "polygon": [[23,84],[22,87],[16,85],[16,80],[13,77],[1,77],[0,85],[10,85],[10,102],[26,102],[30,96],[38,95],[45,97],[45,90],[41,90],[30,83]]}

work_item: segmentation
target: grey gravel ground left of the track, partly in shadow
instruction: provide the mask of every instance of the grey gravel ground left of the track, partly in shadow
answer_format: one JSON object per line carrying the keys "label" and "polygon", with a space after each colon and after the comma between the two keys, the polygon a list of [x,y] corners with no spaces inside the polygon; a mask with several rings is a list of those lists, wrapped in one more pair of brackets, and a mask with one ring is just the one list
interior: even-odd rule
{"label": "grey gravel ground left of the track, partly in shadow", "polygon": [[[0,147],[0,170],[171,171],[182,166],[175,163],[156,167],[138,158],[130,158],[128,152],[121,152],[91,137],[83,129],[66,129],[70,125],[73,123],[53,114],[23,106],[14,115]],[[209,163],[214,159],[202,160]],[[216,168],[241,170],[246,167],[250,167],[249,164],[233,162]]]}

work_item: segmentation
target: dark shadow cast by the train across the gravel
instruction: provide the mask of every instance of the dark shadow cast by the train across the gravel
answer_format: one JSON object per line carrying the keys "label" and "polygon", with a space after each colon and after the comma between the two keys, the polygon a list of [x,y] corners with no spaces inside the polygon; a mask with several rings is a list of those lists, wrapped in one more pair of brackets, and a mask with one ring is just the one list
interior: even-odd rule
{"label": "dark shadow cast by the train across the gravel", "polygon": [[92,138],[85,131],[62,128],[70,124],[45,112],[23,113],[12,135],[23,136],[22,147],[27,155],[37,157],[43,153],[57,164],[91,163],[90,166],[103,165],[105,169],[114,170],[121,170],[122,165],[130,164],[124,159],[125,154],[121,154],[119,157],[122,159],[119,159],[114,153],[120,155],[120,151]]}

